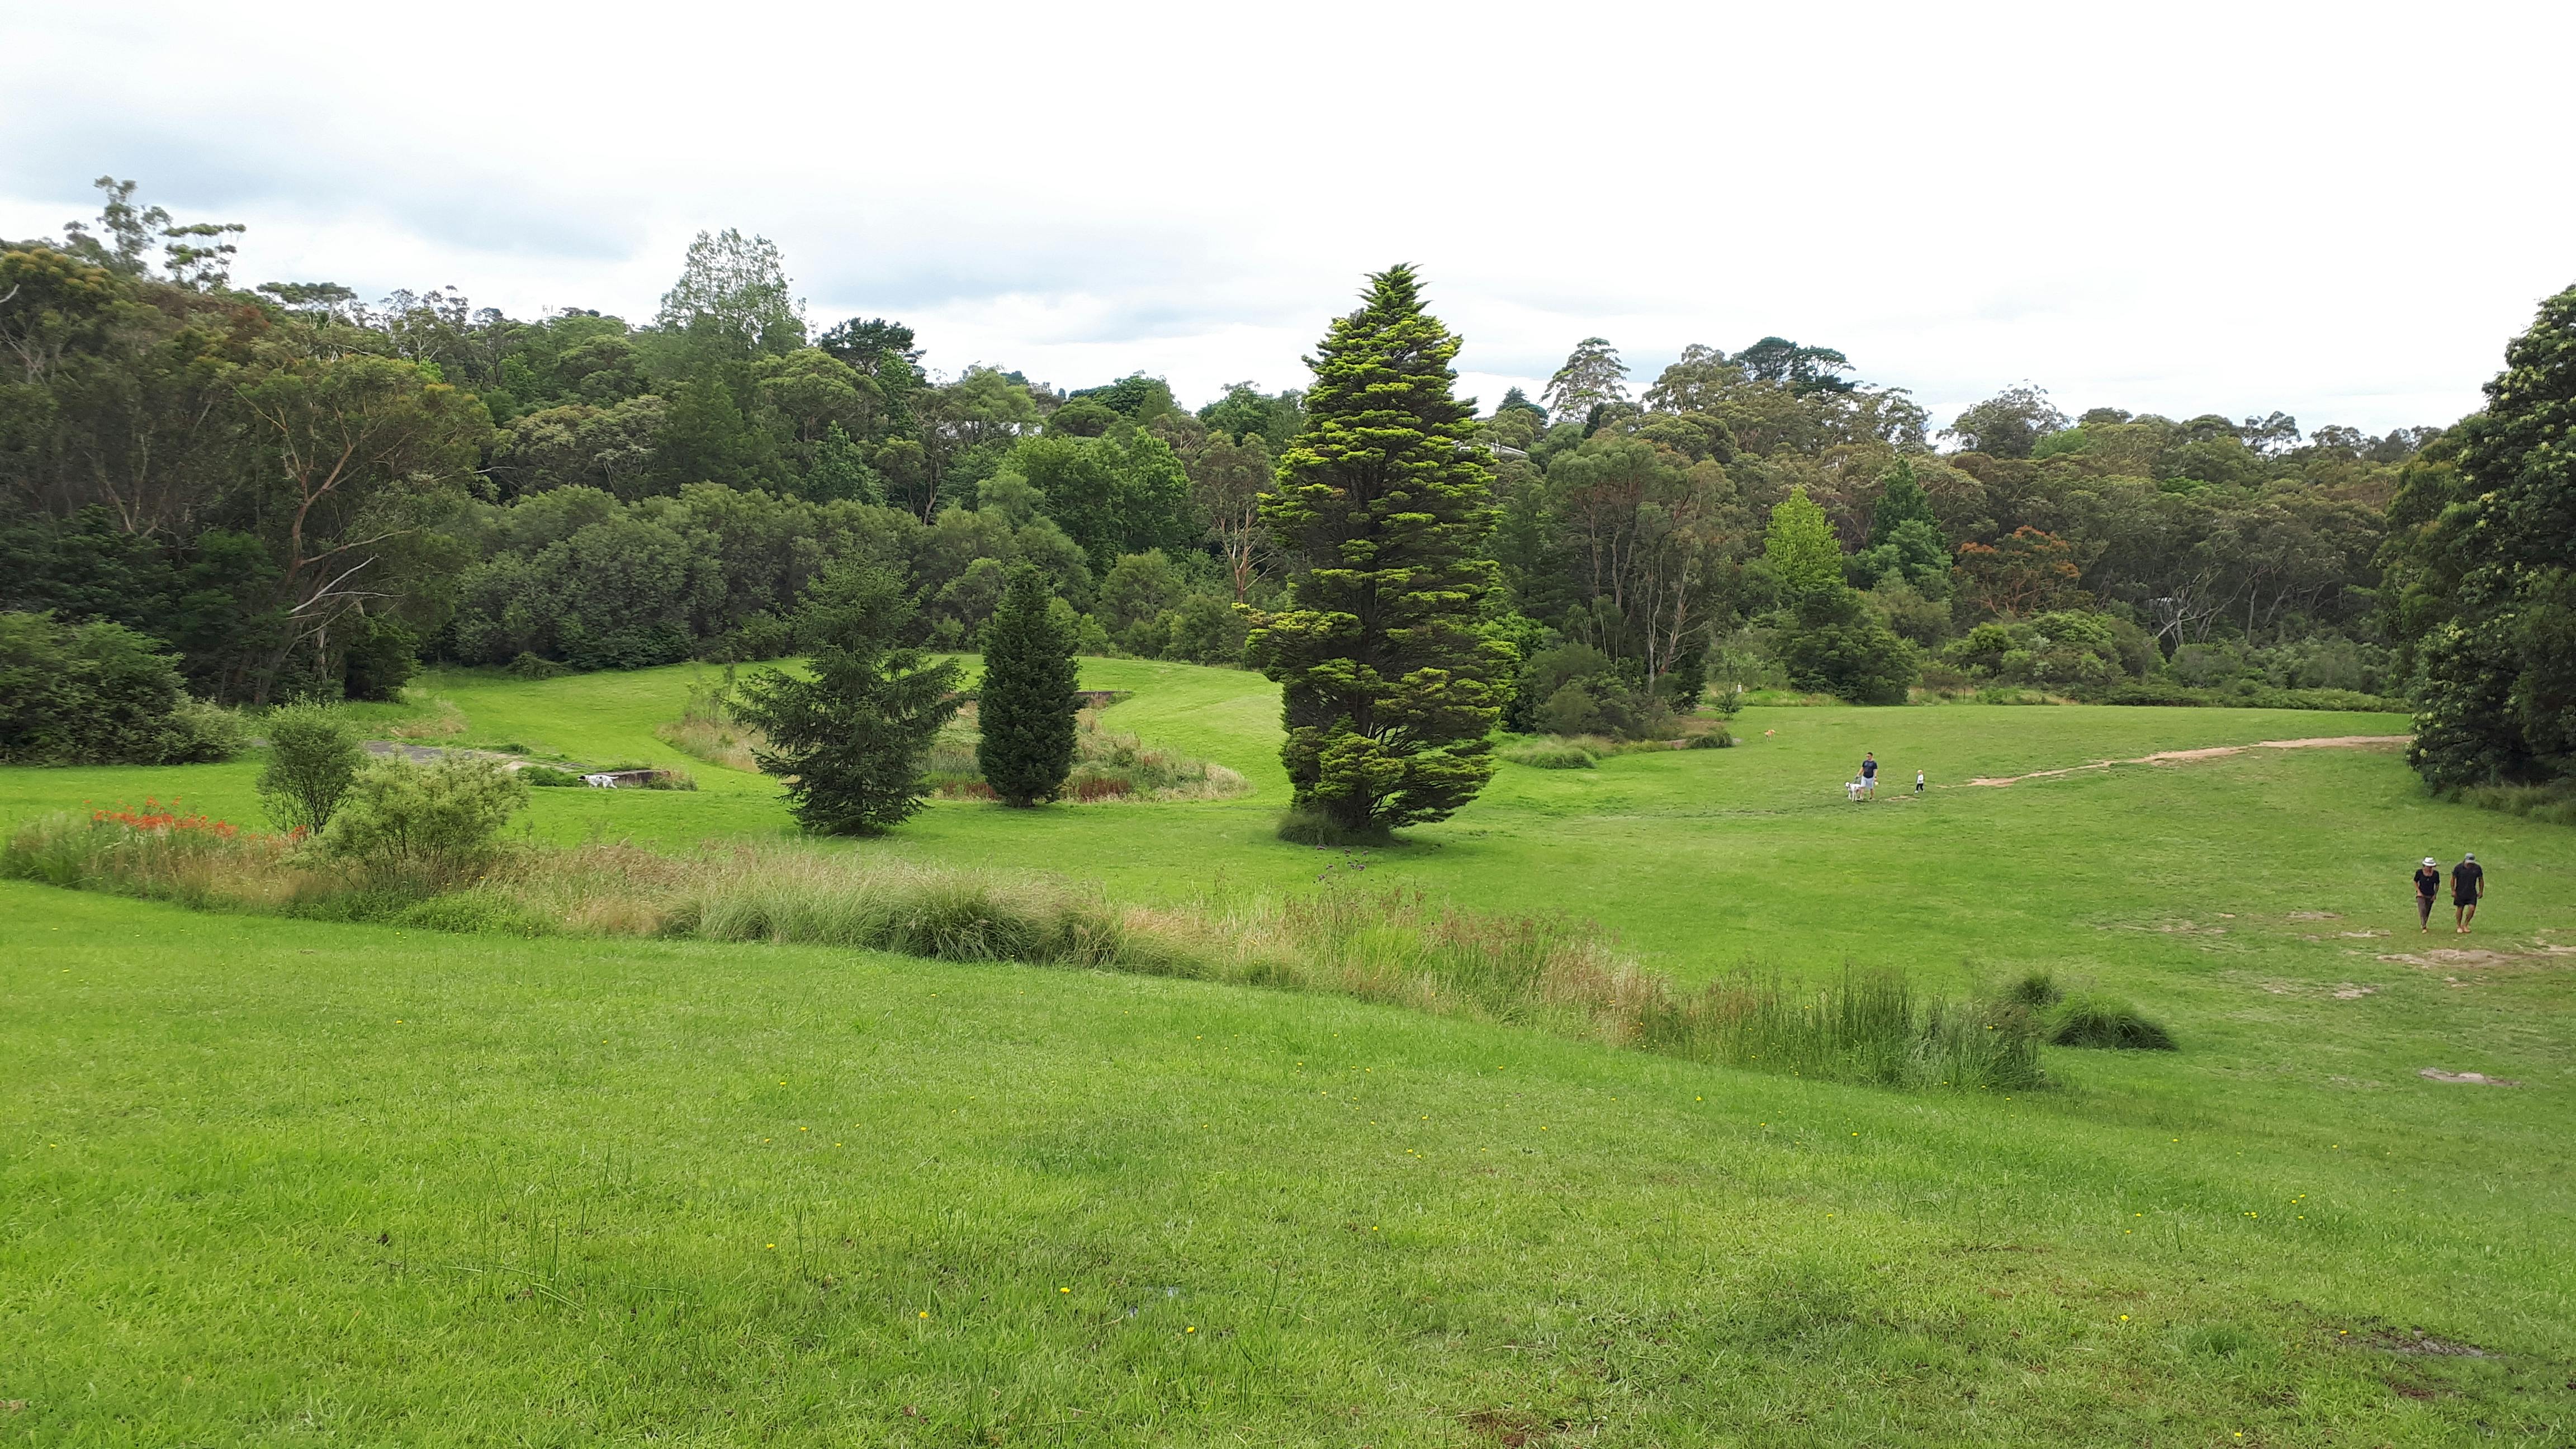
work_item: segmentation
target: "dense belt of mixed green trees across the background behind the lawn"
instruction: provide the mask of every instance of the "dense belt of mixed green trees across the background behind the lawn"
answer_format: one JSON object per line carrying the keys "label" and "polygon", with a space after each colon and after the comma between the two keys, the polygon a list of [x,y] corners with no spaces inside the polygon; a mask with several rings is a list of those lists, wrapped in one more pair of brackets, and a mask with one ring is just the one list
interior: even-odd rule
{"label": "dense belt of mixed green trees across the background behind the lawn", "polygon": [[[1144,374],[938,376],[896,320],[809,320],[732,229],[647,322],[237,286],[237,227],[100,191],[0,242],[0,608],[131,627],[206,699],[775,657],[837,559],[896,575],[927,647],[974,647],[1020,565],[1084,652],[1239,663],[1278,603],[1296,387],[1190,410]],[[1476,627],[1522,730],[1651,730],[1708,683],[2416,699],[2473,606],[2421,544],[2473,425],[2069,415],[2035,387],[1937,425],[1829,345],[1692,345],[1643,382],[1587,338],[1473,436]]]}

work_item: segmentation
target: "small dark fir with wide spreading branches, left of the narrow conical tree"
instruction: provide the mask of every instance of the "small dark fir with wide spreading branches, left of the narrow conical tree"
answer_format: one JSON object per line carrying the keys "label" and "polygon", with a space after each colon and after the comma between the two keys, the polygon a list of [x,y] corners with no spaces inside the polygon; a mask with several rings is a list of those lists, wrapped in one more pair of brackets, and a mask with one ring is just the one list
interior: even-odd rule
{"label": "small dark fir with wide spreading branches, left of the narrow conical tree", "polygon": [[734,719],[770,737],[752,758],[786,781],[788,810],[817,835],[884,835],[930,794],[922,761],[958,712],[958,665],[896,647],[909,621],[891,572],[835,565],[806,590],[814,678],[742,681]]}

